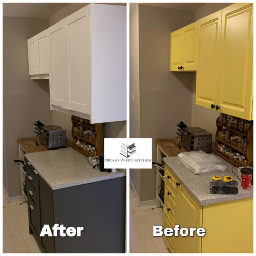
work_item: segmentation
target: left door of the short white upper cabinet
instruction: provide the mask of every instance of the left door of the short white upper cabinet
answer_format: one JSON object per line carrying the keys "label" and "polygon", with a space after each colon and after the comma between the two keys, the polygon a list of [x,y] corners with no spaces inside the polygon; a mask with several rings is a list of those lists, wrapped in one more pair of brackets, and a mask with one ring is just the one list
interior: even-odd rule
{"label": "left door of the short white upper cabinet", "polygon": [[29,75],[39,72],[39,55],[37,36],[28,39]]}

